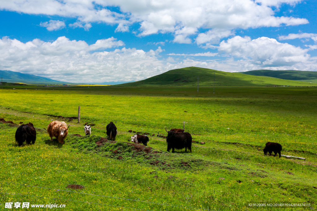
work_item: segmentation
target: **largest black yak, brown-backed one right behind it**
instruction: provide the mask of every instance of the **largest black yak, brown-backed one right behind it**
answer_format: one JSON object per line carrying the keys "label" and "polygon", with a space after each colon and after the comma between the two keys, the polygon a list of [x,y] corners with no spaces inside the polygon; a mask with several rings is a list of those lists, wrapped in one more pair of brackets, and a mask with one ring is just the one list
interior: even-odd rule
{"label": "largest black yak, brown-backed one right behind it", "polygon": [[191,134],[190,133],[178,133],[175,131],[168,131],[166,142],[167,151],[174,152],[174,149],[183,149],[187,152],[187,148],[191,151]]}

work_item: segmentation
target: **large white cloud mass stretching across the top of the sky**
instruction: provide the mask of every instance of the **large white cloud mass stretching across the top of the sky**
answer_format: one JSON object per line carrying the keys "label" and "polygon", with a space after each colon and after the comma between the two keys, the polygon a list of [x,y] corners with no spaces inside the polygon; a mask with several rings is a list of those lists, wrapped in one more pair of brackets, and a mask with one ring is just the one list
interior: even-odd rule
{"label": "large white cloud mass stretching across the top of the sky", "polygon": [[[235,29],[280,27],[307,24],[305,18],[276,16],[281,4],[295,6],[301,0],[15,0],[0,1],[0,9],[26,14],[75,17],[70,26],[89,30],[92,22],[118,24],[115,31],[127,32],[139,23],[139,36],[173,33],[174,42],[192,43],[189,35],[198,29],[210,29],[199,34],[197,44],[213,43],[232,34]],[[120,12],[112,11],[119,7]],[[110,9],[109,9],[110,8]],[[277,8],[274,10],[273,8]],[[220,30],[217,36],[216,29]]]}

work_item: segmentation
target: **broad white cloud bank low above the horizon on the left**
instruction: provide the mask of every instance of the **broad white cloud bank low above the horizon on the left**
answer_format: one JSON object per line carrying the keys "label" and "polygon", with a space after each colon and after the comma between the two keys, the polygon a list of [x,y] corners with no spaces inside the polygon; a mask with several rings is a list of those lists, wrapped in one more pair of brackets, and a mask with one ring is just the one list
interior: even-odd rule
{"label": "broad white cloud bank low above the horizon on the left", "polygon": [[0,69],[82,83],[135,81],[167,71],[157,59],[163,51],[160,47],[148,52],[125,47],[101,51],[123,45],[115,38],[88,45],[66,37],[53,42],[35,39],[27,43],[3,37],[0,39]]}

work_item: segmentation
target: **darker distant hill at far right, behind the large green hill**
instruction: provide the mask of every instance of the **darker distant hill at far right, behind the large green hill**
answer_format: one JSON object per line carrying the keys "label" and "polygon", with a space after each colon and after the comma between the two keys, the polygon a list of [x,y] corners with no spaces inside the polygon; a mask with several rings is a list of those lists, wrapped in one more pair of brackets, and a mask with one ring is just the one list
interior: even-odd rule
{"label": "darker distant hill at far right, behind the large green hill", "polygon": [[268,76],[294,81],[305,81],[317,83],[317,71],[299,71],[299,70],[252,70],[240,72],[242,74],[253,76]]}

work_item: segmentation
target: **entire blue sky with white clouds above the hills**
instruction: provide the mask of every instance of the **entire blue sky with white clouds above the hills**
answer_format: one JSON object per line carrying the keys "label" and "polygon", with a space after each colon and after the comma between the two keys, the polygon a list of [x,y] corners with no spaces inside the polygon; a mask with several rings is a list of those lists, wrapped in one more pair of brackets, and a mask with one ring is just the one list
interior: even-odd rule
{"label": "entire blue sky with white clouds above the hills", "polygon": [[198,66],[317,71],[317,1],[0,1],[0,70],[74,83]]}

